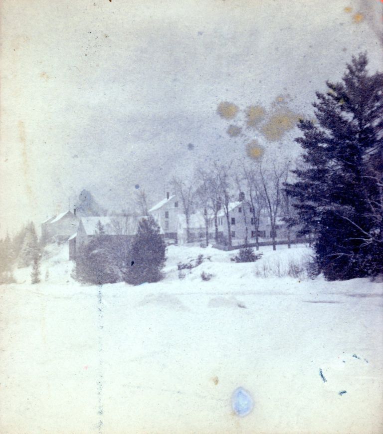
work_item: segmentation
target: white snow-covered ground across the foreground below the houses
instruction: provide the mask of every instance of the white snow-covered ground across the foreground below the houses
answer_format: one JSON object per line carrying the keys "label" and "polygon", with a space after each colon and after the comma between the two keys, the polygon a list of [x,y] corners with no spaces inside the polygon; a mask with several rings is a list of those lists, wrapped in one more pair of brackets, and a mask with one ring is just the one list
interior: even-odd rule
{"label": "white snow-covered ground across the foreground below the houses", "polygon": [[382,284],[289,277],[308,247],[260,251],[170,246],[164,280],[136,287],[73,281],[67,247],[41,284],[16,270],[0,286],[0,432],[382,433]]}

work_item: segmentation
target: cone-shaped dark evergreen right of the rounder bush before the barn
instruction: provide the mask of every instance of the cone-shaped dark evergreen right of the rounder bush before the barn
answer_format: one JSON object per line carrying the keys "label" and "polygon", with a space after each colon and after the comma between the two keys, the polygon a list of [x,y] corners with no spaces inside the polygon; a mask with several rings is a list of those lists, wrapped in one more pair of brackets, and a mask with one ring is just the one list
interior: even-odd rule
{"label": "cone-shaped dark evergreen right of the rounder bush before the barn", "polygon": [[161,279],[161,269],[165,263],[165,241],[153,217],[139,222],[131,250],[131,266],[126,280],[139,285],[144,282],[157,282]]}

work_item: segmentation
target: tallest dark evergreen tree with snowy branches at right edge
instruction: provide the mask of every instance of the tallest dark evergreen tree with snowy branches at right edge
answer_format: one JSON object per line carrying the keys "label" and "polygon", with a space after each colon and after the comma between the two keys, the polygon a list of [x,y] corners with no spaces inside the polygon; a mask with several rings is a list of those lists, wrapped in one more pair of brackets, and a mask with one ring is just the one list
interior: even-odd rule
{"label": "tallest dark evergreen tree with snowy branches at right edge", "polygon": [[342,81],[317,93],[317,122],[302,120],[296,139],[304,163],[286,186],[328,279],[383,271],[383,74],[367,63],[353,57]]}

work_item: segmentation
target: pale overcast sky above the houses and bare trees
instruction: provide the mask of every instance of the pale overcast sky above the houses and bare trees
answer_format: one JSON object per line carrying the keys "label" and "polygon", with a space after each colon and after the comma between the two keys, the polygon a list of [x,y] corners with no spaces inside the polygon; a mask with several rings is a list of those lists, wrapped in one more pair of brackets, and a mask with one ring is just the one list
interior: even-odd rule
{"label": "pale overcast sky above the houses and bare trees", "polygon": [[383,69],[380,0],[1,7],[2,233],[65,211],[83,188],[109,209],[126,208],[136,185],[156,201],[195,161],[247,158],[252,135],[267,155],[295,158],[296,131],[230,137],[218,104],[240,109],[239,126],[249,105],[312,116],[315,90],[352,54]]}

